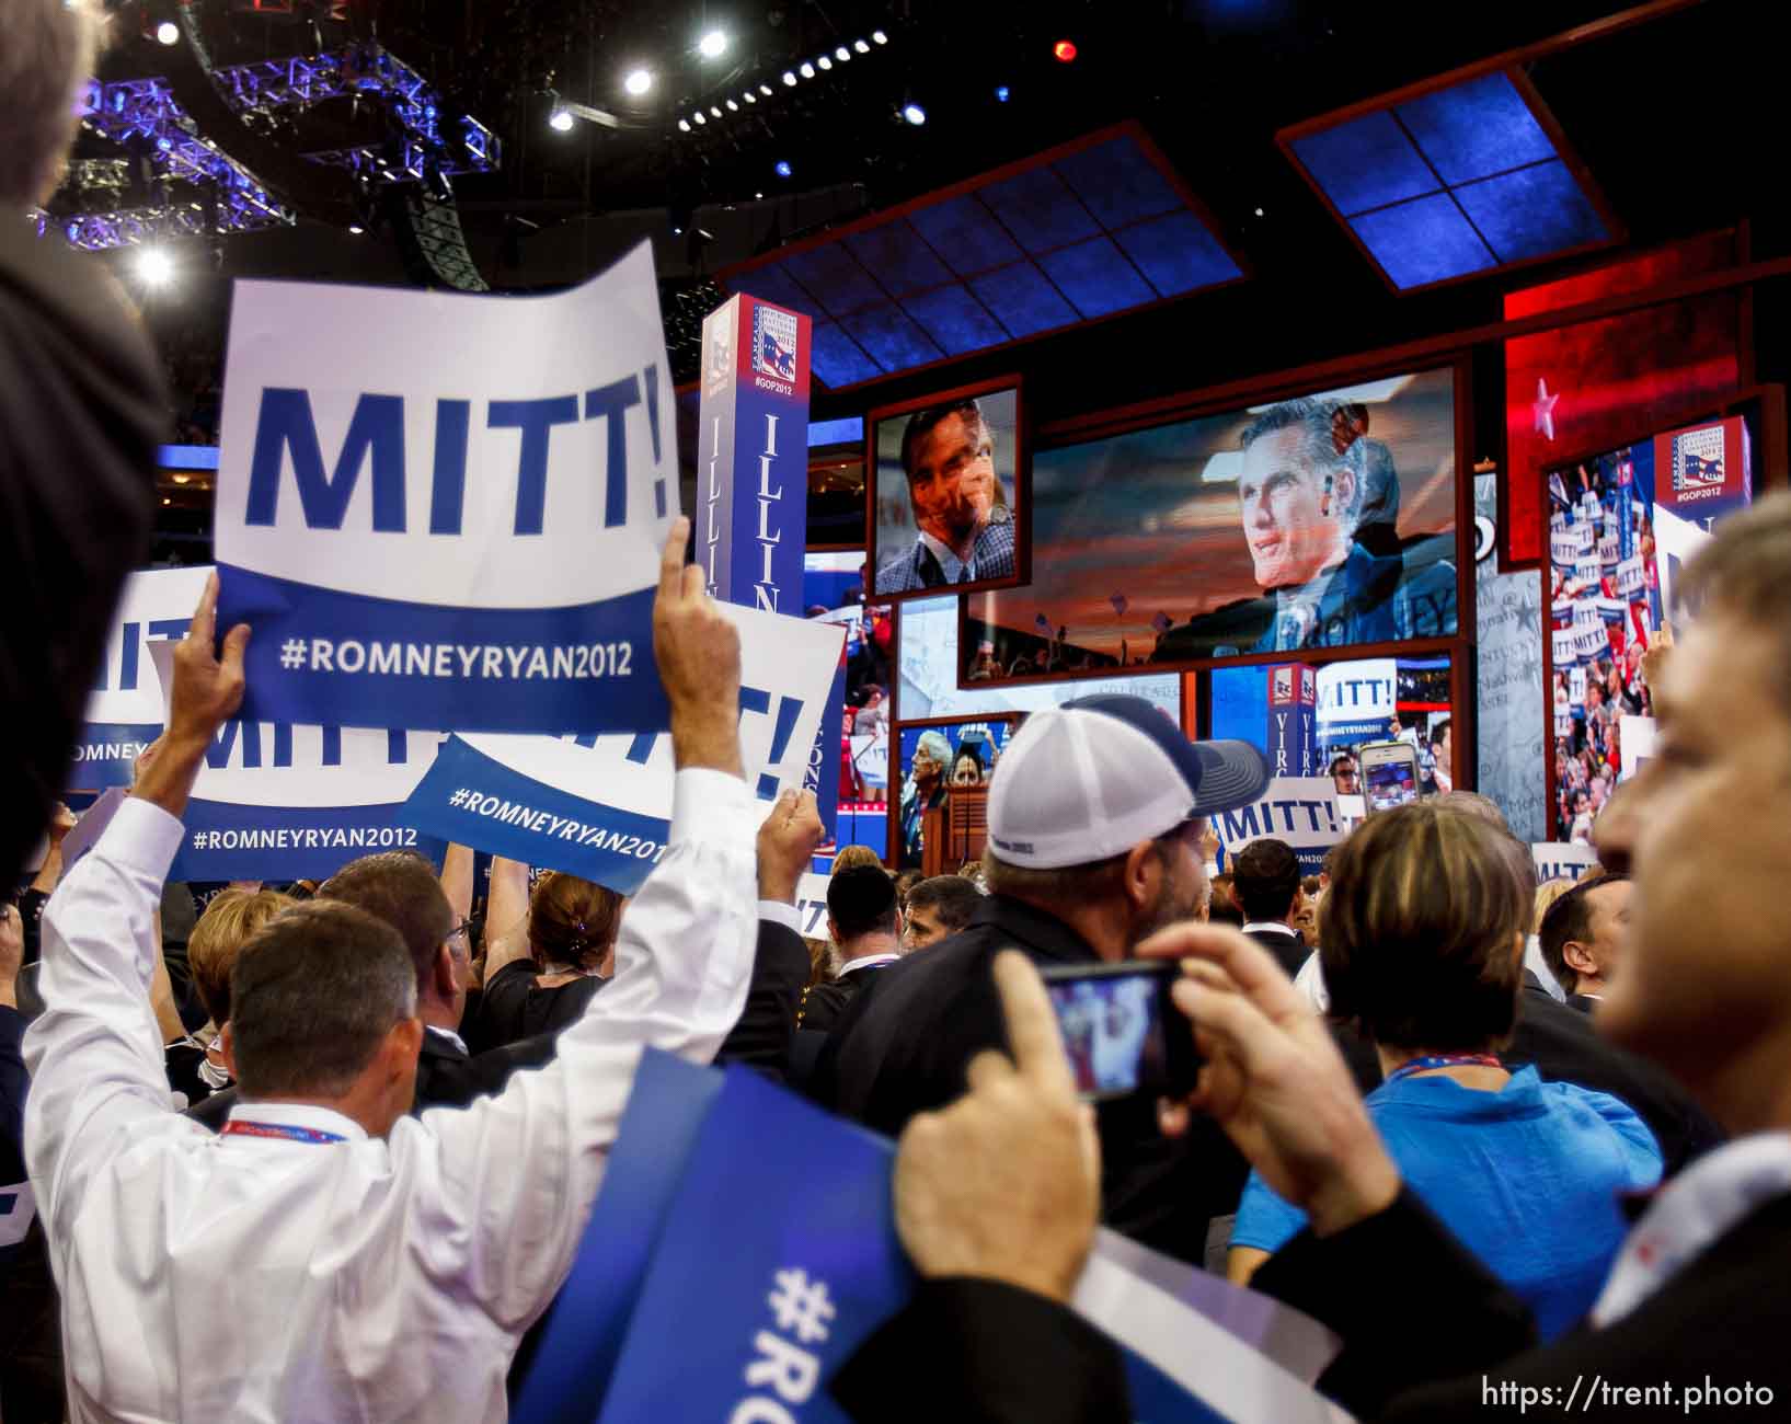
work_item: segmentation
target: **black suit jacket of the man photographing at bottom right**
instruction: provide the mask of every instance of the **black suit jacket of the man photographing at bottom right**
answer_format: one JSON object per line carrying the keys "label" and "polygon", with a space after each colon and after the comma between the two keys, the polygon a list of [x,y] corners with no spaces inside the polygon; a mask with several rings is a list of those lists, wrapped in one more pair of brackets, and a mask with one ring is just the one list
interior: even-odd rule
{"label": "black suit jacket of the man photographing at bottom right", "polygon": [[[1327,1240],[1300,1232],[1252,1284],[1343,1338],[1318,1385],[1363,1420],[1485,1424],[1517,1419],[1521,1401],[1531,1419],[1684,1420],[1700,1415],[1684,1392],[1709,1386],[1755,1392],[1752,1408],[1712,1410],[1705,1397],[1709,1417],[1768,1419],[1791,1399],[1787,1257],[1791,1197],[1778,1197],[1623,1320],[1537,1349],[1522,1302],[1404,1193]],[[1761,1390],[1771,1390],[1770,1406]],[[1062,1306],[985,1281],[922,1286],[845,1363],[833,1392],[860,1424],[1132,1417],[1105,1336]]]}

